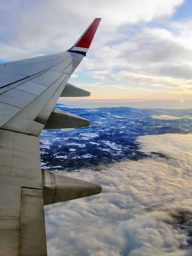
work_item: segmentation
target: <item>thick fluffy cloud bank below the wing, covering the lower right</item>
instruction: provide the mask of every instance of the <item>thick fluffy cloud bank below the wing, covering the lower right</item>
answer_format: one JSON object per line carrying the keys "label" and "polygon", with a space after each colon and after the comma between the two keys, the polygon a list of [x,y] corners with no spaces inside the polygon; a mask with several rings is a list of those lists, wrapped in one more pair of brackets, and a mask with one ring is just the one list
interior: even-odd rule
{"label": "thick fluffy cloud bank below the wing, covering the lower right", "polygon": [[148,159],[70,173],[103,192],[45,207],[49,256],[191,255],[192,134],[138,141]]}

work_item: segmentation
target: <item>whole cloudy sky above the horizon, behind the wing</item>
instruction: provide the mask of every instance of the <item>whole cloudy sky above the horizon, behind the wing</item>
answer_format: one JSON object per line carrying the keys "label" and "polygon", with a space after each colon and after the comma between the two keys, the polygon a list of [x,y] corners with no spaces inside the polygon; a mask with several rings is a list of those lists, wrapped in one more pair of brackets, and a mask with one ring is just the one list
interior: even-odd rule
{"label": "whole cloudy sky above the horizon, behind the wing", "polygon": [[0,61],[69,49],[101,17],[71,84],[89,99],[192,99],[190,0],[1,2]]}

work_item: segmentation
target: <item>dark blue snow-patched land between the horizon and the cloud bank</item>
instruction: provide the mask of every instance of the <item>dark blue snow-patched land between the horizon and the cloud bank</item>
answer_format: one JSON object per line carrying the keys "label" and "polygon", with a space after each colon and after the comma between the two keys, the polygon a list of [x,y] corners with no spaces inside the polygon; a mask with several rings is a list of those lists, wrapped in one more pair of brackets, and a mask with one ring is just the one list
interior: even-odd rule
{"label": "dark blue snow-patched land between the horizon and the cloud bank", "polygon": [[[101,164],[122,160],[139,160],[146,157],[168,158],[164,154],[145,154],[137,142],[138,136],[152,134],[192,133],[192,119],[163,120],[151,115],[160,110],[137,108],[66,108],[63,111],[89,119],[90,127],[63,130],[44,130],[40,136],[42,166],[49,170],[67,171],[91,167],[98,170]],[[166,112],[167,111],[167,112]],[[170,114],[170,110],[163,110]],[[191,109],[180,111],[190,115]]]}

